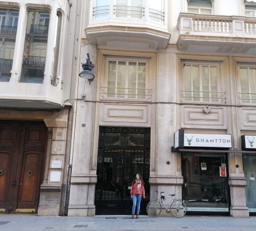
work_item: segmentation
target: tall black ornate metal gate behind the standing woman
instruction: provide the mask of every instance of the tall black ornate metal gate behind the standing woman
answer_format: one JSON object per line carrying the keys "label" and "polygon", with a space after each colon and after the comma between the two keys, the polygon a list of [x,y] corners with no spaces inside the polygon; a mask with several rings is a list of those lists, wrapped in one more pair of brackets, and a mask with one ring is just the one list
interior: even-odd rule
{"label": "tall black ornate metal gate behind the standing woman", "polygon": [[150,128],[100,127],[95,191],[96,214],[131,214],[131,181],[135,174],[145,181],[149,202]]}

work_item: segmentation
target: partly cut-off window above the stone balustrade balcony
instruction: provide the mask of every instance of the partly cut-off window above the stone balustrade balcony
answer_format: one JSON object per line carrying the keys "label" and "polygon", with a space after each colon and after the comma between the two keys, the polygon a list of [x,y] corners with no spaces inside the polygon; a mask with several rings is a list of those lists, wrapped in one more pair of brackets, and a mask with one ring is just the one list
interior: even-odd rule
{"label": "partly cut-off window above the stone balustrade balcony", "polygon": [[188,0],[188,13],[211,14],[212,1],[210,0]]}

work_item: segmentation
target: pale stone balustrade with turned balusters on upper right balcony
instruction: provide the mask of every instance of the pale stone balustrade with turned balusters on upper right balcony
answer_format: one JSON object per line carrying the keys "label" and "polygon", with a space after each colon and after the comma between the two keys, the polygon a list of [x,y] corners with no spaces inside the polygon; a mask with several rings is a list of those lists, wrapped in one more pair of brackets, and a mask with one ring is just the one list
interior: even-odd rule
{"label": "pale stone balustrade with turned balusters on upper right balcony", "polygon": [[246,34],[255,36],[256,19],[220,15],[198,15],[181,13],[177,28],[180,34],[202,34],[211,33],[212,36],[245,37]]}

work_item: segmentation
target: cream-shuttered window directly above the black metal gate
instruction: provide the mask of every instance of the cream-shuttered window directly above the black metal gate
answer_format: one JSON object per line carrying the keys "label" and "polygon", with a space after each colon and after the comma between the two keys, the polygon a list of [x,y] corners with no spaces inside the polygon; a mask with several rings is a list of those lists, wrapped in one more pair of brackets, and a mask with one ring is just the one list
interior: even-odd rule
{"label": "cream-shuttered window directly above the black metal gate", "polygon": [[146,62],[108,61],[107,96],[145,99]]}

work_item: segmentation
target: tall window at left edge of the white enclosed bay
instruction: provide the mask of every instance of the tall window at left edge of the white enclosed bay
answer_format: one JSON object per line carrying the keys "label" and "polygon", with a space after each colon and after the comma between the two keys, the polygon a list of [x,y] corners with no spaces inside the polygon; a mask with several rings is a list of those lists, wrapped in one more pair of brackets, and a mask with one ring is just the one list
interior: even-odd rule
{"label": "tall window at left edge of the white enclosed bay", "polygon": [[0,9],[0,81],[10,80],[18,15],[18,10]]}

